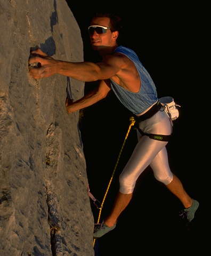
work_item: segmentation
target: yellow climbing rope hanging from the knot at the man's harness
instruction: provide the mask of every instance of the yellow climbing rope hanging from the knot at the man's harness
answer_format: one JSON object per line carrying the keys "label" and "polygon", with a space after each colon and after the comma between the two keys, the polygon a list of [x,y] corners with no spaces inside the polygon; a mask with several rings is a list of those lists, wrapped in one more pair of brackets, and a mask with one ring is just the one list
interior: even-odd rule
{"label": "yellow climbing rope hanging from the knot at the man's harness", "polygon": [[[98,222],[97,222],[97,224],[100,223],[100,217],[101,217],[102,207],[103,207],[105,198],[106,198],[106,196],[107,196],[107,194],[108,194],[108,190],[109,190],[109,188],[110,188],[111,181],[112,181],[113,176],[114,176],[114,174],[115,174],[115,171],[116,171],[116,169],[117,169],[117,165],[118,165],[118,163],[119,163],[119,159],[120,159],[121,153],[122,153],[123,148],[124,148],[124,146],[125,146],[125,142],[126,142],[127,137],[128,137],[128,135],[129,135],[129,131],[131,131],[131,127],[135,124],[135,119],[134,119],[133,116],[129,118],[129,121],[131,121],[131,123],[129,124],[129,128],[128,128],[127,133],[126,133],[125,140],[124,140],[124,142],[123,142],[123,146],[121,146],[121,149],[120,149],[120,152],[119,152],[119,155],[118,155],[118,158],[117,158],[116,165],[115,165],[115,167],[114,167],[114,169],[113,169],[113,172],[112,172],[112,174],[111,174],[111,179],[110,179],[110,181],[109,181],[109,183],[108,183],[108,187],[107,187],[107,189],[106,189],[106,191],[105,191],[105,194],[104,194],[104,197],[103,197],[103,201],[102,201],[102,203],[101,203],[101,206],[99,207],[99,215],[98,215]],[[95,240],[96,240],[96,239],[94,239],[93,247],[94,247],[94,244],[95,244]]]}

